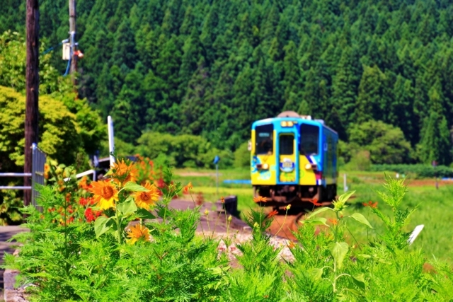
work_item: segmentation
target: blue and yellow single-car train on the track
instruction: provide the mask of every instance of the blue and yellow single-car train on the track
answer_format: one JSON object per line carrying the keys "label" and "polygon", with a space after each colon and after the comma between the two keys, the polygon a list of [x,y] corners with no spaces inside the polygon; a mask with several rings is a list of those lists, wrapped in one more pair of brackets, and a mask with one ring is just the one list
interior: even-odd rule
{"label": "blue and yellow single-car train on the track", "polygon": [[267,204],[331,201],[338,178],[338,134],[322,120],[282,112],[253,122],[251,184]]}

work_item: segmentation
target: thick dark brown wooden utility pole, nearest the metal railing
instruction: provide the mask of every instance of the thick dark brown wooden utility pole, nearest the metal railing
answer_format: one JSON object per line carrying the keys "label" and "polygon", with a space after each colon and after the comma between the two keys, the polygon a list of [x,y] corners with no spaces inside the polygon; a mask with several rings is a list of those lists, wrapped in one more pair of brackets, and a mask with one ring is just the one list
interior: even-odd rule
{"label": "thick dark brown wooden utility pole, nearest the metal railing", "polygon": [[[27,59],[25,69],[25,165],[24,173],[32,172],[32,144],[38,144],[38,95],[39,95],[39,4],[38,0],[27,0]],[[31,186],[31,178],[25,176],[24,186]],[[31,202],[31,190],[25,190],[23,203]]]}

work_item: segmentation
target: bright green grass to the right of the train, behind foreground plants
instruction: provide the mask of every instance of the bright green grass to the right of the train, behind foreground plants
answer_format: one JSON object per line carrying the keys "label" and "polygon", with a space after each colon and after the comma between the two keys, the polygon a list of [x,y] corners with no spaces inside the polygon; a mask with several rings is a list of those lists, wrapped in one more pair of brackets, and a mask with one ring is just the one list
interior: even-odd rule
{"label": "bright green grass to the right of the train, behind foreground plants", "polygon": [[[383,173],[377,173],[377,178],[384,180]],[[359,180],[362,180],[362,178]],[[376,178],[374,178],[376,179]],[[442,185],[438,190],[432,185],[411,186],[411,180],[408,180],[409,187],[405,198],[401,204],[402,209],[413,209],[416,211],[411,216],[411,223],[406,231],[413,231],[415,226],[423,224],[425,227],[420,236],[415,240],[411,248],[421,248],[428,259],[438,258],[453,262],[453,229],[451,222],[453,212],[451,204],[453,202],[453,185]],[[350,199],[349,208],[345,214],[352,214],[357,211],[365,217],[369,217],[369,222],[375,227],[368,232],[358,225],[355,221],[350,222],[350,232],[355,239],[363,242],[368,238],[379,238],[379,234],[384,232],[383,223],[373,214],[369,214],[369,209],[362,205],[363,202],[378,202],[378,207],[389,214],[389,207],[384,204],[377,195],[377,191],[384,190],[382,182],[372,182],[362,180],[356,184],[349,185],[350,190],[355,190],[355,199]],[[340,186],[339,193],[343,192],[343,186]],[[352,236],[350,236],[352,238]],[[350,238],[350,239],[351,239]],[[351,239],[353,240],[353,238]]]}

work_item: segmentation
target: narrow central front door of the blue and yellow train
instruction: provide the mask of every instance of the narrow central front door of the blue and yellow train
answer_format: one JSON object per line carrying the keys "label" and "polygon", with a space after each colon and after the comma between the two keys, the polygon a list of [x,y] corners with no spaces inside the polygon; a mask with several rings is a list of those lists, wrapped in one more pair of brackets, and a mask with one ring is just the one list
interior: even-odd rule
{"label": "narrow central front door of the blue and yellow train", "polygon": [[296,144],[297,132],[282,132],[278,135],[279,177],[281,184],[294,184],[297,182],[299,151]]}

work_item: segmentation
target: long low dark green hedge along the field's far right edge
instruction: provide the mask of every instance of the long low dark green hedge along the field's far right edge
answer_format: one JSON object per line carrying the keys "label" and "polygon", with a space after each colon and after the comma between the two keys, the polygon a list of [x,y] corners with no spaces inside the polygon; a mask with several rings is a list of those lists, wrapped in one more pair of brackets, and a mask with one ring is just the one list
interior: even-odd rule
{"label": "long low dark green hedge along the field's far right edge", "polygon": [[412,175],[413,178],[453,178],[453,169],[446,165],[372,165],[374,172],[392,171],[399,174]]}

